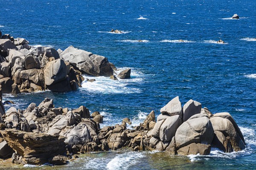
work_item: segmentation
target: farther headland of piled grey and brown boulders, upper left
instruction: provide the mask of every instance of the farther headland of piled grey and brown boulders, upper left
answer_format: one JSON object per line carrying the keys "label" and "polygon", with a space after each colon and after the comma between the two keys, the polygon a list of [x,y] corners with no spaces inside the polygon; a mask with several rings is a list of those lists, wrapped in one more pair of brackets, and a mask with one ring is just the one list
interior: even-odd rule
{"label": "farther headland of piled grey and brown boulders, upper left", "polygon": [[[108,58],[73,46],[62,51],[29,46],[24,38],[0,31],[0,86],[3,93],[36,92],[49,89],[66,92],[81,87],[82,75],[107,76],[116,67]],[[129,78],[128,73],[120,78]]]}

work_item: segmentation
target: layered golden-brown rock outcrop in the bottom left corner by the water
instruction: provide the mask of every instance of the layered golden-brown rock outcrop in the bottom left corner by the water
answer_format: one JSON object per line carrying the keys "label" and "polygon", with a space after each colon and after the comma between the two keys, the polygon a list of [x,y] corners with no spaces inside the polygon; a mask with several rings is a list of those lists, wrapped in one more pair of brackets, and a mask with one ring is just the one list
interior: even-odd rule
{"label": "layered golden-brown rock outcrop in the bottom left corner by the water", "polygon": [[4,140],[22,156],[23,164],[44,164],[48,158],[65,152],[64,139],[44,133],[28,133],[15,129],[1,130]]}

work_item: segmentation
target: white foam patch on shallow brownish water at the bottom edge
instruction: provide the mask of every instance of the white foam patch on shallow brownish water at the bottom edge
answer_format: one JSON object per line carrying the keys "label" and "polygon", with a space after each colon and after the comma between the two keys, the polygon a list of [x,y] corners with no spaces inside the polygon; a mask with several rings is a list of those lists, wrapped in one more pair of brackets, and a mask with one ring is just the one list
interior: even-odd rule
{"label": "white foam patch on shallow brownish water at the bottom edge", "polygon": [[127,170],[130,166],[139,163],[143,157],[145,155],[140,152],[122,153],[109,161],[106,168],[108,170]]}

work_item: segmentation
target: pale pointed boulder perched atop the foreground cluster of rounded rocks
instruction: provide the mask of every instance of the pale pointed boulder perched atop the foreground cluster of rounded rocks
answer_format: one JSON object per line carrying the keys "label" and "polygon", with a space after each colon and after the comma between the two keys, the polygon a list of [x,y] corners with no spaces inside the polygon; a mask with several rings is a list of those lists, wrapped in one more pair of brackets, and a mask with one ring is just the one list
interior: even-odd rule
{"label": "pale pointed boulder perched atop the foreground cluster of rounded rocks", "polygon": [[182,107],[179,100],[179,96],[173,98],[166,104],[162,109],[160,109],[162,114],[169,114],[170,116],[173,115],[181,115],[182,114]]}

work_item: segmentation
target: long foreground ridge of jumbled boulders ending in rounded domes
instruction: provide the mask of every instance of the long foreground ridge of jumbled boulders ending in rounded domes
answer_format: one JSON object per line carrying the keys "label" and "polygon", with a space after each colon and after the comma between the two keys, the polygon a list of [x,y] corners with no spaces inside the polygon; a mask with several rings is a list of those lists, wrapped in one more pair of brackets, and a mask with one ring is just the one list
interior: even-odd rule
{"label": "long foreground ridge of jumbled boulders ending in rounded domes", "polygon": [[55,108],[49,98],[39,105],[29,104],[25,110],[11,107],[5,111],[2,101],[0,106],[0,156],[17,164],[61,165],[77,154],[124,148],[208,155],[212,147],[229,153],[246,145],[229,113],[212,114],[193,100],[182,106],[178,96],[160,109],[157,118],[151,111],[133,129],[127,129],[127,123],[132,125],[129,118],[100,128],[99,123],[104,123],[100,112],[90,115],[84,106]]}

